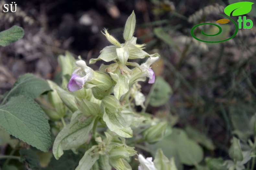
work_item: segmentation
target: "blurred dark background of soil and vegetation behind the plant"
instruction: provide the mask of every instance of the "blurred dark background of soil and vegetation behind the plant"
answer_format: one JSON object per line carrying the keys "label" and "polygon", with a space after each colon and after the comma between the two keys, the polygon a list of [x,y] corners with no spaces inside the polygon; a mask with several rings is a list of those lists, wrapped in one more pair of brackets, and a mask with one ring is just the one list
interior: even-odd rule
{"label": "blurred dark background of soil and vegetation behind the plant", "polygon": [[[224,8],[235,2],[239,1],[16,1],[16,13],[0,10],[0,31],[19,25],[25,35],[16,43],[0,47],[0,94],[10,90],[17,77],[27,72],[59,82],[58,55],[67,50],[75,57],[81,55],[87,63],[97,58],[99,51],[109,45],[101,30],[108,28],[122,42],[123,26],[134,10],[135,36],[139,43],[146,44],[149,54],[161,55],[153,70],[172,89],[165,105],[149,105],[146,111],[169,120],[175,127],[171,137],[162,142],[138,147],[147,156],[162,147],[167,157],[177,158],[178,169],[185,170],[199,169],[198,165],[207,163],[207,156],[228,159],[232,136],[237,136],[244,147],[253,137],[256,29],[239,29],[233,39],[223,43],[199,42],[192,38],[190,30],[200,23],[215,23],[222,18],[217,14],[224,14]],[[10,3],[0,0],[0,8]],[[246,16],[255,23],[256,5]],[[237,21],[237,17],[233,19]],[[203,28],[210,34],[218,32],[215,27]],[[225,24],[220,37],[208,40],[226,39],[234,31],[232,23]],[[148,95],[151,85],[143,83],[142,87]],[[156,86],[154,90],[159,89]],[[5,153],[6,147],[1,148],[1,154]],[[182,157],[180,153],[187,155]]]}

